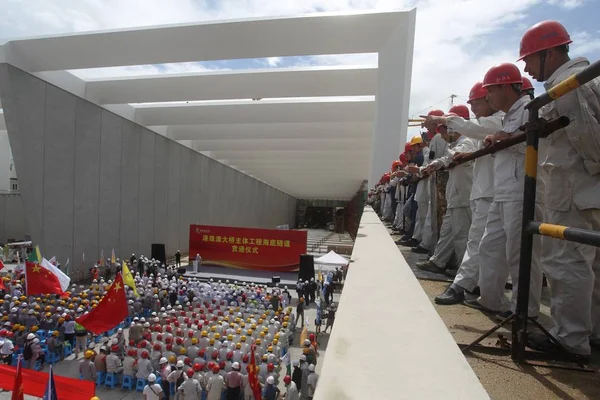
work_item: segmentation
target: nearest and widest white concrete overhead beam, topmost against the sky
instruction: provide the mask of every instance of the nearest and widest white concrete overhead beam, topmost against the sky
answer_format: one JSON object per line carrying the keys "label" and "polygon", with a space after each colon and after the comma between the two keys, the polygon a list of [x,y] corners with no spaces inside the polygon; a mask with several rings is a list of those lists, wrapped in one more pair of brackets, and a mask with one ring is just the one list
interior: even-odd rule
{"label": "nearest and widest white concrete overhead beam, topmost against the sky", "polygon": [[[377,52],[410,12],[322,13],[166,25],[8,42],[6,62],[52,71],[241,58]],[[151,49],[149,51],[149,49]]]}

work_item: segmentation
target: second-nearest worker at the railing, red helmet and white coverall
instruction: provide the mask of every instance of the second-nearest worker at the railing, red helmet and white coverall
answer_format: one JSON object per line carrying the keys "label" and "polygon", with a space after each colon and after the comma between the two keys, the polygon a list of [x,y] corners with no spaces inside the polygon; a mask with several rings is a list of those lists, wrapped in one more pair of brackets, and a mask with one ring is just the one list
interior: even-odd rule
{"label": "second-nearest worker at the railing, red helmet and white coverall", "polygon": [[[483,87],[493,108],[506,113],[502,131],[486,137],[484,144],[510,138],[520,133],[527,122],[527,97],[521,95],[522,78],[519,69],[509,63],[492,67],[485,75]],[[519,259],[523,217],[523,187],[525,181],[525,144],[517,144],[494,154],[494,201],[490,205],[485,231],[479,245],[478,299],[465,299],[470,307],[494,312],[504,317],[507,308],[514,312],[519,283]],[[513,283],[510,305],[504,287],[510,275]],[[528,315],[537,317],[540,308],[542,272],[539,263],[532,262]],[[507,307],[509,305],[509,307]]]}

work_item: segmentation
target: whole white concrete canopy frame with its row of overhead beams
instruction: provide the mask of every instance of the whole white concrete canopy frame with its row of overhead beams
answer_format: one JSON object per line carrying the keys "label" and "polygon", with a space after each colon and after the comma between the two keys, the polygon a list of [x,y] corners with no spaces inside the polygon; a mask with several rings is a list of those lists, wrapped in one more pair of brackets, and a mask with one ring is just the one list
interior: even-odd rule
{"label": "whole white concrete canopy frame with its row of overhead beams", "polygon": [[[389,169],[404,143],[415,14],[315,14],[12,40],[0,47],[0,62],[294,197],[349,199],[364,179],[372,184]],[[377,53],[378,67],[90,81],[68,72],[349,53]]]}

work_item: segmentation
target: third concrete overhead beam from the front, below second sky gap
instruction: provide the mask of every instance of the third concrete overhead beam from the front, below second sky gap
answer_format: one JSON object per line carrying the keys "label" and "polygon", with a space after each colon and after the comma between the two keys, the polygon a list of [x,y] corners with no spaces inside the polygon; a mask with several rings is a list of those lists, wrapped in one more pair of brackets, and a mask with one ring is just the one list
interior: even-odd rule
{"label": "third concrete overhead beam from the front, below second sky gap", "polygon": [[177,104],[136,108],[141,125],[372,122],[375,101],[255,101]]}

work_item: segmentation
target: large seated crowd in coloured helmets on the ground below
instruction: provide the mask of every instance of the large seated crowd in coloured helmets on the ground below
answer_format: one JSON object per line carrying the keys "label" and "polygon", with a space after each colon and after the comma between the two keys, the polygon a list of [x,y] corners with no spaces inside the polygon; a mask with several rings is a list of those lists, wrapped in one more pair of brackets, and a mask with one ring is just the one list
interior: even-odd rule
{"label": "large seated crowd in coloured helmets on the ground below", "polygon": [[111,281],[74,285],[68,298],[25,296],[21,281],[4,281],[0,352],[7,364],[15,364],[17,353],[25,368],[43,369],[44,356],[58,362],[73,352],[76,360],[81,357],[81,379],[114,374],[119,385],[130,379],[133,389],[141,381],[146,399],[254,399],[252,365],[263,399],[283,395],[280,380],[288,400],[311,399],[316,389],[315,334],[302,340],[297,360],[289,353],[297,321],[287,287],[138,273],[139,296],[127,292],[128,321],[94,336],[75,320],[96,307]]}

